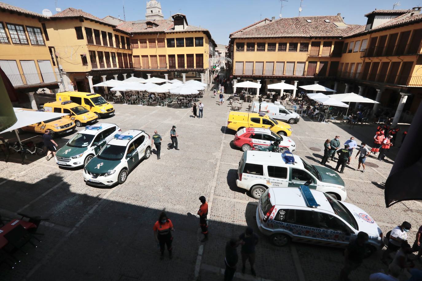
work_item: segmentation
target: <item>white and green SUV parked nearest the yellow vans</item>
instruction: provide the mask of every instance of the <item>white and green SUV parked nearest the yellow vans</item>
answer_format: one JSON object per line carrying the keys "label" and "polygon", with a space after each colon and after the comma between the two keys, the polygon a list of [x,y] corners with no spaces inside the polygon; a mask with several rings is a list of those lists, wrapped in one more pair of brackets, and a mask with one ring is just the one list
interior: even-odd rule
{"label": "white and green SUV parked nearest the yellow vans", "polygon": [[116,124],[111,123],[86,126],[84,130],[78,131],[67,144],[57,150],[57,165],[62,167],[81,167],[87,165],[114,138],[114,135],[121,131]]}

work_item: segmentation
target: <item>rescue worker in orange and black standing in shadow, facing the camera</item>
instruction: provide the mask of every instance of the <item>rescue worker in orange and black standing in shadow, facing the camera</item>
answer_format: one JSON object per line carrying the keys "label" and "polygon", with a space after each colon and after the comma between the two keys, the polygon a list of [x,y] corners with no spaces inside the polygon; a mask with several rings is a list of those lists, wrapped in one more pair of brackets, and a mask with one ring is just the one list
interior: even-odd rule
{"label": "rescue worker in orange and black standing in shadow, facing the camera", "polygon": [[160,245],[160,260],[164,259],[165,245],[167,245],[169,258],[173,258],[173,254],[171,252],[171,243],[173,242],[173,236],[171,236],[171,231],[174,231],[174,228],[173,223],[170,219],[167,218],[167,214],[165,214],[165,212],[161,212],[160,217],[154,224],[153,230],[155,241],[157,241],[157,243]]}

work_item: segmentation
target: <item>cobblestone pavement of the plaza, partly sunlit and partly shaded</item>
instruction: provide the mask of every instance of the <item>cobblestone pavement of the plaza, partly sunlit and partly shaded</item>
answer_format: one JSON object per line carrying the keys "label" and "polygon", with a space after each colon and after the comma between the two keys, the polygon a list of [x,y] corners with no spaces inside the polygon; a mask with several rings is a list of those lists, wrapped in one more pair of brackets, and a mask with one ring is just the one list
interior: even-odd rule
{"label": "cobblestone pavement of the plaza, partly sunlit and partly shaded", "polygon": [[[116,115],[104,121],[122,130],[140,128],[150,135],[154,129],[170,142],[172,125],[177,126],[180,150],[167,150],[161,159],[152,155],[142,161],[124,185],[110,189],[90,187],[82,170],[59,169],[54,161],[29,158],[21,165],[0,162],[0,211],[3,217],[16,213],[51,218],[43,222],[43,242],[38,248],[25,247],[27,256],[17,253],[22,262],[14,270],[0,267],[0,280],[222,280],[226,241],[246,227],[256,231],[254,214],[257,201],[235,185],[236,169],[242,152],[231,146],[235,132],[226,130],[228,107],[219,106],[211,93],[203,99],[204,118],[197,119],[186,108],[115,104]],[[336,134],[345,141],[354,135],[358,143],[371,139],[374,125],[354,128],[339,123],[322,124],[308,118],[292,125],[296,154],[310,163],[319,163],[325,139]],[[63,145],[71,136],[59,139]],[[394,159],[397,148],[387,154]],[[376,163],[363,174],[349,167],[342,175],[347,201],[357,204],[376,220],[384,233],[403,220],[414,226],[409,241],[419,227],[421,203],[406,201],[386,209],[382,183],[392,161]],[[333,164],[331,162],[330,164]],[[335,163],[334,163],[335,164]],[[352,159],[350,167],[357,167]],[[210,207],[209,241],[200,243],[199,221],[195,216],[205,195]],[[152,226],[162,209],[172,219],[174,257],[159,260]],[[236,280],[336,280],[343,265],[343,252],[307,244],[277,248],[261,235],[257,246],[257,278],[236,273]],[[239,250],[240,251],[240,250]],[[387,270],[380,252],[365,260],[352,280]],[[420,264],[417,263],[420,267]],[[238,270],[241,262],[239,261]]]}

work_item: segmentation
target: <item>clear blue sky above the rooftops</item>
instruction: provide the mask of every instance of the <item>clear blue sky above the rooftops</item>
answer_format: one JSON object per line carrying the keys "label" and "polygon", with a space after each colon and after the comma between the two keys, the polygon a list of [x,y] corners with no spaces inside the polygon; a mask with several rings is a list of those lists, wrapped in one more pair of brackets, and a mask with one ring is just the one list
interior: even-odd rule
{"label": "clear blue sky above the rooftops", "polygon": [[[47,8],[55,13],[54,0],[0,0],[30,11],[41,13]],[[57,0],[57,7],[64,10],[82,9],[99,18],[111,15],[123,19],[123,3],[126,20],[145,19],[146,0]],[[162,12],[167,19],[170,11],[184,13],[188,24],[201,26],[211,32],[216,43],[227,45],[229,34],[242,27],[275,16],[279,18],[280,0],[161,0]],[[336,15],[341,13],[348,24],[366,24],[365,13],[375,8],[392,9],[397,0],[303,0],[301,16]],[[421,0],[401,0],[396,9],[409,9],[421,4]],[[283,1],[283,17],[298,16],[300,0]]]}

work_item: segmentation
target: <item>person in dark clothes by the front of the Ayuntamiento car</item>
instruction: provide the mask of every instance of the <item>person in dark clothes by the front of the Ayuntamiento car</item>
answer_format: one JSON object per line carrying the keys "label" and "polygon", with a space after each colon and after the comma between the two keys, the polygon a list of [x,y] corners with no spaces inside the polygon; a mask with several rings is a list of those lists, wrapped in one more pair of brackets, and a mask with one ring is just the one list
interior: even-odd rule
{"label": "person in dark clothes by the front of the Ayuntamiento car", "polygon": [[344,250],[344,267],[340,271],[340,281],[350,280],[349,274],[362,264],[366,253],[365,243],[368,240],[368,234],[360,231],[357,233],[357,238],[347,245],[346,250]]}

